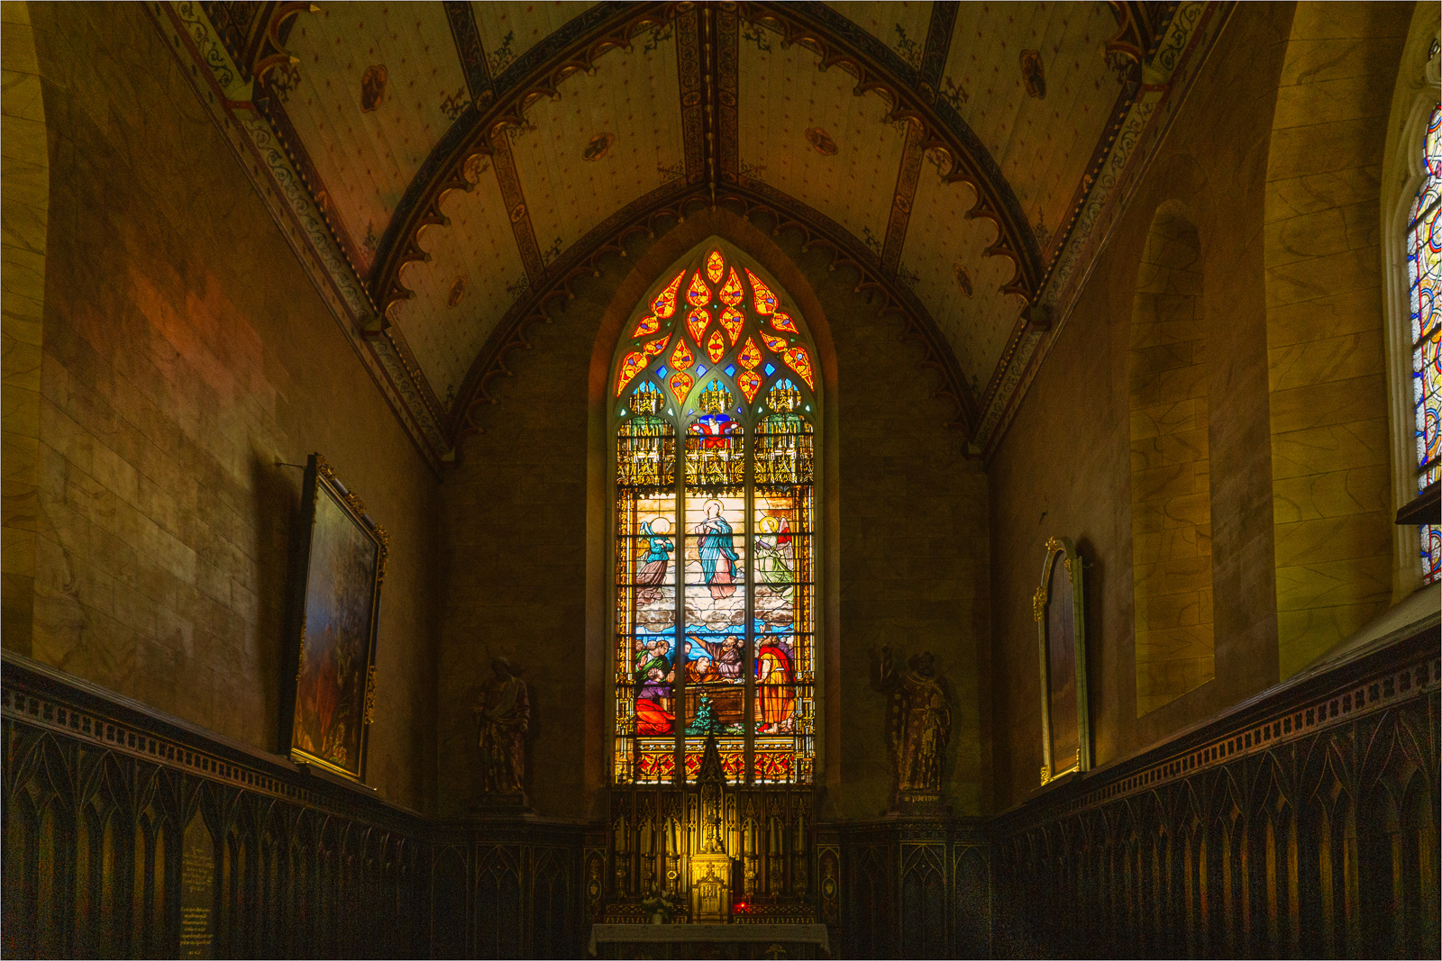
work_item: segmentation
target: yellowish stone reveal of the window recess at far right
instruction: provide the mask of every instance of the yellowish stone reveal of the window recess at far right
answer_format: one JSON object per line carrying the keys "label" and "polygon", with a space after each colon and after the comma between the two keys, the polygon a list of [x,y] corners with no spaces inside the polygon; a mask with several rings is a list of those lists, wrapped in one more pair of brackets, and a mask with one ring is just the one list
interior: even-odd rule
{"label": "yellowish stone reveal of the window recess at far right", "polygon": [[1379,186],[1412,9],[1299,3],[1282,65],[1266,174],[1282,677],[1393,595]]}

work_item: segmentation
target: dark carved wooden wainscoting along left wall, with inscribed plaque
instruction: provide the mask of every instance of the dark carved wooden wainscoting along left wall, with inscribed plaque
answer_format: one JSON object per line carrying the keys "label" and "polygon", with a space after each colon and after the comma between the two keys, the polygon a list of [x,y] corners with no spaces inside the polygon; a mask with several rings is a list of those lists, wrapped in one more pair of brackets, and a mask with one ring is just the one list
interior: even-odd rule
{"label": "dark carved wooden wainscoting along left wall, with inscribed plaque", "polygon": [[4,654],[7,957],[430,957],[427,824]]}

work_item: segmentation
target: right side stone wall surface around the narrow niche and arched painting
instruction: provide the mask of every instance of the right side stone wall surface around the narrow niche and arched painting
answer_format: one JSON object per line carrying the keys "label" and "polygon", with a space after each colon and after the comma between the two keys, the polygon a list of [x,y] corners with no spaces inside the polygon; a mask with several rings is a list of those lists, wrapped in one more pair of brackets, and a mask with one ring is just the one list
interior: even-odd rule
{"label": "right side stone wall surface around the narrow niche and arched painting", "polygon": [[[1283,4],[1231,13],[988,467],[998,810],[1038,788],[1031,594],[1048,536],[1076,539],[1089,565],[1094,764],[1126,758],[1278,680],[1262,213],[1291,14]],[[1145,713],[1128,354],[1148,232],[1169,203],[1187,210],[1201,251],[1191,269],[1203,277],[1216,651],[1213,680]]]}

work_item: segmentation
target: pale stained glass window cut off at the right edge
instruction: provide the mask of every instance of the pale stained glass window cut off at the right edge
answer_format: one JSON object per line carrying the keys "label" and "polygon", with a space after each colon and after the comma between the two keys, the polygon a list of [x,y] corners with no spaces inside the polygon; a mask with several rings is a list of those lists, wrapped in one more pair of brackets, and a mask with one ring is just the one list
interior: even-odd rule
{"label": "pale stained glass window cut off at the right edge", "polygon": [[[1426,179],[1407,220],[1407,284],[1412,295],[1412,398],[1416,405],[1417,490],[1438,480],[1442,419],[1442,105],[1432,111],[1423,146]],[[1442,575],[1442,529],[1422,526],[1422,578]]]}

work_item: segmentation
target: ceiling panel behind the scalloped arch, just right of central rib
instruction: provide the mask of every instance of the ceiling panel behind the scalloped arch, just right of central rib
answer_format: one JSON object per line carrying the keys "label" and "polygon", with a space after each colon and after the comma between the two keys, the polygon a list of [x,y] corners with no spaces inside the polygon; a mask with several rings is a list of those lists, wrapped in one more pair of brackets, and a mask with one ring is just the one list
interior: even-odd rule
{"label": "ceiling panel behind the scalloped arch, just right of central rib", "polygon": [[741,36],[741,173],[825,213],[881,255],[904,124],[883,121],[878,94],[852,95],[855,78],[818,71],[800,45],[770,30]]}

